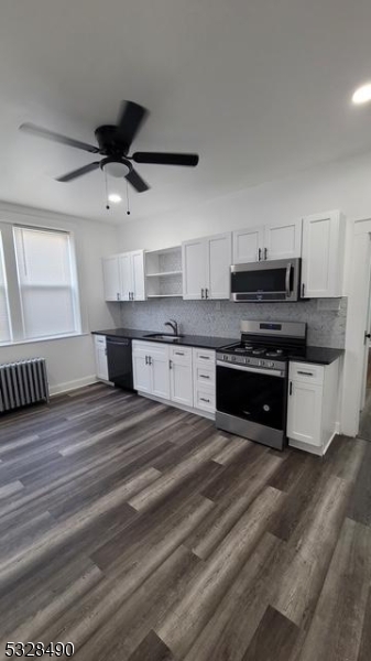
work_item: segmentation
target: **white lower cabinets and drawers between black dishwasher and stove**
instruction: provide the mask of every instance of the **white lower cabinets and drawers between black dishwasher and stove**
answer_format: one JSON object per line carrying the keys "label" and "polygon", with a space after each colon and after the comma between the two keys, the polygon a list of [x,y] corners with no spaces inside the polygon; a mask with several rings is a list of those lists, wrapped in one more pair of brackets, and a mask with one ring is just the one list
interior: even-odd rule
{"label": "white lower cabinets and drawers between black dishwasher and stove", "polygon": [[134,340],[132,362],[141,394],[215,414],[215,351]]}

